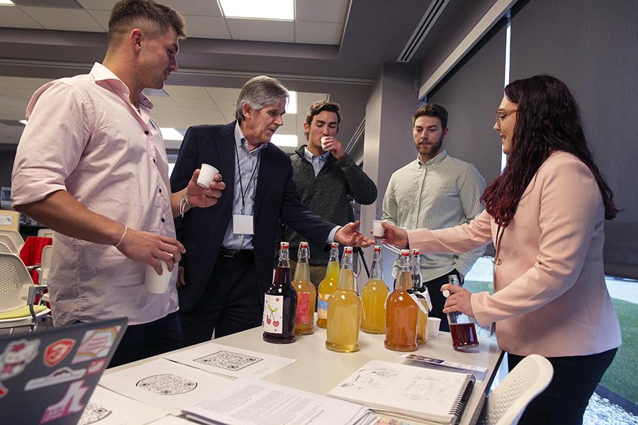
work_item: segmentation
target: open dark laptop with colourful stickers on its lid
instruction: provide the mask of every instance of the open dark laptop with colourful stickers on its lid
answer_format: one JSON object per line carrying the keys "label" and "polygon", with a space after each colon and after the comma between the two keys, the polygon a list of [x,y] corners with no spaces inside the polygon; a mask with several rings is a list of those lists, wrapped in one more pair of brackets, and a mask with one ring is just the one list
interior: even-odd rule
{"label": "open dark laptop with colourful stickers on its lid", "polygon": [[75,425],[128,319],[0,338],[0,412],[6,424]]}

